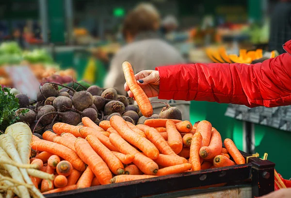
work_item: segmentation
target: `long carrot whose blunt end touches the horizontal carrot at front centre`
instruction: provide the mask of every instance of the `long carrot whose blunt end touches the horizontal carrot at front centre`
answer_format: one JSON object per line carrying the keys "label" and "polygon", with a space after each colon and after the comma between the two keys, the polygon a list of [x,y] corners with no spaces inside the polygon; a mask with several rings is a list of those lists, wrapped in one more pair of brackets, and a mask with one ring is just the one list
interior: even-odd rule
{"label": "long carrot whose blunt end touches the horizontal carrot at front centre", "polygon": [[127,141],[122,139],[122,137],[111,133],[109,139],[121,153],[134,155],[133,164],[135,164],[145,174],[155,175],[158,172],[159,166],[153,160],[133,148]]}

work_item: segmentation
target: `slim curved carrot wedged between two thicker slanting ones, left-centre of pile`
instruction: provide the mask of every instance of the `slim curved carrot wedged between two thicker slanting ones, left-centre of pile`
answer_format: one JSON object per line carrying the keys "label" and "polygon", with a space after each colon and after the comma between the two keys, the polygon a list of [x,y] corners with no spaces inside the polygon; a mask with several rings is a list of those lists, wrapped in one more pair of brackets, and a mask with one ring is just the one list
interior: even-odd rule
{"label": "slim curved carrot wedged between two thicker slanting ones, left-centre of pile", "polygon": [[109,148],[112,151],[118,151],[113,144],[110,142],[109,137],[97,132],[96,130],[90,128],[90,127],[82,127],[80,130],[80,133],[83,137],[87,137],[87,135],[91,134],[96,136],[100,142],[107,148]]}

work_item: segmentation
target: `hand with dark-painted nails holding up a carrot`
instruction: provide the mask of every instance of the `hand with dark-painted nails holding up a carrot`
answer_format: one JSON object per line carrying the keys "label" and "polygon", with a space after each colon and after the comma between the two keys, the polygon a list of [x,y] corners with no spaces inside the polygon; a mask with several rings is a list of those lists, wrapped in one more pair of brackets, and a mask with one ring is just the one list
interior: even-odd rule
{"label": "hand with dark-painted nails holding up a carrot", "polygon": [[[135,74],[137,83],[144,90],[148,98],[156,97],[159,95],[160,90],[160,74],[155,70],[144,70]],[[128,92],[129,97],[132,98],[133,94],[129,90],[127,83],[124,84],[124,90]]]}

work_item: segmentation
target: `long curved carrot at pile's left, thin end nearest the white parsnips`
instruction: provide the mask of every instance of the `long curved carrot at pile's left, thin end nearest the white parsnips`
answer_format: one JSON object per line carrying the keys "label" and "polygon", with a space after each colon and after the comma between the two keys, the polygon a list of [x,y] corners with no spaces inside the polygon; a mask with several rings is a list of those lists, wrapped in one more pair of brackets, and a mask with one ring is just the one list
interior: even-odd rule
{"label": "long curved carrot at pile's left, thin end nearest the white parsnips", "polygon": [[60,156],[61,158],[69,161],[77,170],[85,170],[85,164],[82,162],[80,157],[78,157],[76,152],[70,148],[54,142],[49,142],[47,140],[32,141],[31,146],[34,150],[48,151],[52,154]]}

